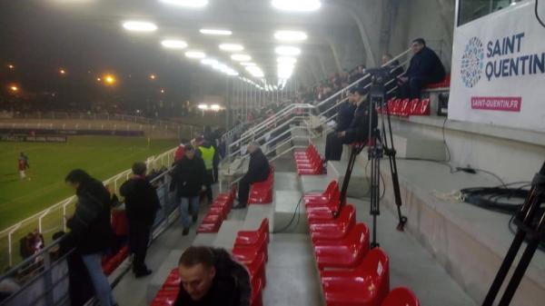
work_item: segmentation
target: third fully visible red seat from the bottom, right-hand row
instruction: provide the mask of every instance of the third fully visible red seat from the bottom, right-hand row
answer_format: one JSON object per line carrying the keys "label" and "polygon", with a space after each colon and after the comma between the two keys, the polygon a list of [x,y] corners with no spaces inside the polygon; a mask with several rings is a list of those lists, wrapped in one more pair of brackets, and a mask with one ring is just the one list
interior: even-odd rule
{"label": "third fully visible red seat from the bottom, right-hand row", "polygon": [[356,210],[352,205],[342,207],[341,214],[332,221],[309,224],[312,243],[338,241],[344,238],[356,224]]}

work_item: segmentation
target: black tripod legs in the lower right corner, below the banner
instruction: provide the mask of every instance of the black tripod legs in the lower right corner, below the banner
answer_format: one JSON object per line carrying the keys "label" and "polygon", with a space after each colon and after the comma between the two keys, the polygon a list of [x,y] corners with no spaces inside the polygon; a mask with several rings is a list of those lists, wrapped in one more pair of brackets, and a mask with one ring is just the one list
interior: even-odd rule
{"label": "black tripod legs in the lower right corner, below the banner", "polygon": [[490,286],[486,298],[482,302],[482,306],[492,306],[492,303],[500,292],[503,281],[505,281],[505,278],[507,277],[511,264],[515,261],[515,257],[522,246],[522,242],[527,240],[528,244],[526,250],[522,253],[520,262],[517,264],[517,268],[515,268],[507,288],[503,291],[503,295],[501,296],[498,305],[508,306],[510,304],[540,242],[545,241],[545,211],[540,211],[540,205],[543,202],[545,202],[545,163],[541,166],[540,172],[534,176],[530,193],[522,204],[520,212],[515,215],[514,222],[518,227],[517,233],[501,263],[496,278]]}

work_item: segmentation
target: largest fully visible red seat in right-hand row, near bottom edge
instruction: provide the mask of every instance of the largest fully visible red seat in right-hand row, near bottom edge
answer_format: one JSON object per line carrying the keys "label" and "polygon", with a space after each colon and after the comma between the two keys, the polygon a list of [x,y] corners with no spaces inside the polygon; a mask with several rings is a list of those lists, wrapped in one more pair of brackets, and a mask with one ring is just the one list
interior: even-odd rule
{"label": "largest fully visible red seat in right-hand row, near bottom edge", "polygon": [[322,271],[323,296],[328,306],[379,306],[390,291],[388,256],[370,251],[352,271]]}

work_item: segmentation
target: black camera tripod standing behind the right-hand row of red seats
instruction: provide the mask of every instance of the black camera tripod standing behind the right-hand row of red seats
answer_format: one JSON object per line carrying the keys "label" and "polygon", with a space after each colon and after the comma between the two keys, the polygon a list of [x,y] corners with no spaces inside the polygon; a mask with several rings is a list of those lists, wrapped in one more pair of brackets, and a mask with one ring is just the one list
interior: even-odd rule
{"label": "black camera tripod standing behind the right-hand row of red seats", "polygon": [[[391,119],[390,112],[388,107],[386,109],[386,116],[381,112],[381,127],[382,133],[373,124],[373,115],[376,114],[377,107],[384,106],[385,104],[385,93],[384,86],[382,84],[372,84],[370,101],[369,101],[369,133],[368,135],[359,135],[358,140],[365,140],[367,136],[367,141],[362,143],[352,143],[352,151],[350,158],[348,160],[348,165],[346,167],[346,173],[344,174],[344,180],[342,182],[341,189],[341,204],[339,206],[339,211],[335,213],[337,216],[344,205],[346,205],[346,193],[348,192],[348,185],[351,180],[352,170],[354,164],[356,163],[356,157],[362,153],[363,148],[367,145],[368,147],[368,159],[371,163],[371,200],[370,200],[370,214],[372,215],[372,242],[371,247],[375,248],[380,246],[377,242],[377,216],[381,214],[380,204],[381,204],[381,158],[386,155],[388,156],[390,162],[390,171],[391,171],[391,180],[393,185],[393,194],[395,204],[397,206],[397,214],[399,223],[397,225],[398,231],[403,231],[405,228],[405,223],[407,222],[407,217],[401,214],[401,191],[400,183],[397,172],[397,163],[395,160],[396,151],[393,147],[393,135],[391,133]],[[386,123],[388,120],[388,131],[389,135],[386,134]],[[377,124],[378,125],[378,124]],[[390,145],[388,138],[390,136]]]}

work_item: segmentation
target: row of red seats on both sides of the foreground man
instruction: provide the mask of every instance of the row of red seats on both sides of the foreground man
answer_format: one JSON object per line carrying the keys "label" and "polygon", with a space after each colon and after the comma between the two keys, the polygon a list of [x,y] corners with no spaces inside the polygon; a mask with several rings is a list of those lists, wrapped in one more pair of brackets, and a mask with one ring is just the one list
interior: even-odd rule
{"label": "row of red seats on both sides of the foreground man", "polygon": [[[237,233],[233,257],[250,272],[252,283],[251,306],[263,306],[263,288],[266,284],[265,262],[268,260],[269,220],[264,219],[257,231]],[[173,269],[155,295],[152,306],[172,306],[180,291],[180,274]]]}

